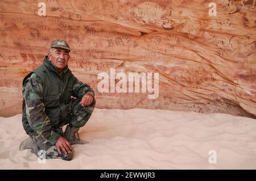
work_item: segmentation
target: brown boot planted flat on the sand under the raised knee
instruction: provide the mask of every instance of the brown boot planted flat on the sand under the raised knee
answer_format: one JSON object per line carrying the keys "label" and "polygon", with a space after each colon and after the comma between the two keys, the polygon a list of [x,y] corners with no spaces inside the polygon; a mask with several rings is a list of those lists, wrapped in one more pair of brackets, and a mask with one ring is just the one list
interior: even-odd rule
{"label": "brown boot planted flat on the sand under the raised knee", "polygon": [[87,141],[80,140],[79,133],[78,133],[79,129],[80,128],[70,127],[69,125],[67,125],[67,128],[65,129],[65,132],[64,132],[64,137],[70,142],[71,145],[76,145],[76,144],[84,145],[88,143]]}

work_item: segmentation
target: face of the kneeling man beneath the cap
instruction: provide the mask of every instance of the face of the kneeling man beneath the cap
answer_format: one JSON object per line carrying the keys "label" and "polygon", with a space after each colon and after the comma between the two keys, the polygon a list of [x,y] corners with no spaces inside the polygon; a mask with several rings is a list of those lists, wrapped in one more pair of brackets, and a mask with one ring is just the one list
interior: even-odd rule
{"label": "face of the kneeling man beneath the cap", "polygon": [[48,52],[49,60],[56,66],[59,71],[62,71],[68,64],[69,50],[64,48],[52,48],[52,54]]}

